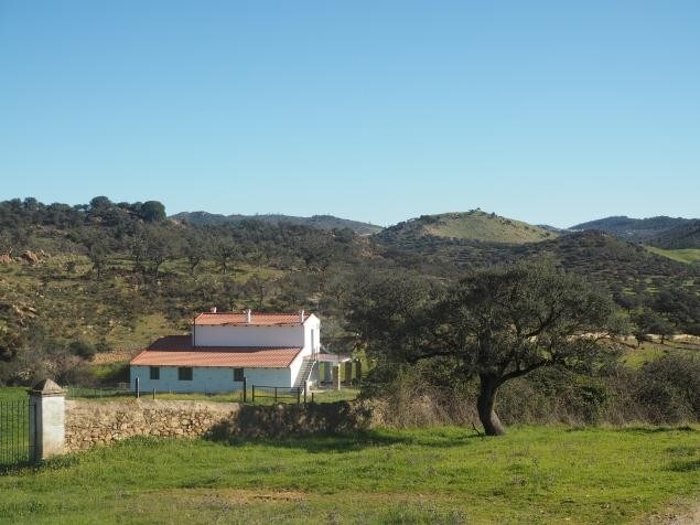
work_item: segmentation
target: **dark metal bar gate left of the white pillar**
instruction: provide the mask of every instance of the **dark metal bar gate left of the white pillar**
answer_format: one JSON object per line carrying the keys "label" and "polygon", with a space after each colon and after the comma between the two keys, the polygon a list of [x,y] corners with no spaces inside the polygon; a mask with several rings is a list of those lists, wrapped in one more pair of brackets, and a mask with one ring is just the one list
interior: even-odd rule
{"label": "dark metal bar gate left of the white pillar", "polygon": [[0,401],[0,469],[32,459],[30,419],[35,410],[29,399]]}

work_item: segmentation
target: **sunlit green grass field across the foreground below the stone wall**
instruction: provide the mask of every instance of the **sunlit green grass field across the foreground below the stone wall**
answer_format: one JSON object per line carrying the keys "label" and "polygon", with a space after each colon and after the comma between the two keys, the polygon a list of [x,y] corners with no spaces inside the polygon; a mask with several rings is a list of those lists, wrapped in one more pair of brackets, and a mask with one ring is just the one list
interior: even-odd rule
{"label": "sunlit green grass field across the foreground below the stone wall", "polygon": [[4,523],[629,523],[700,493],[700,427],[134,439],[0,476]]}

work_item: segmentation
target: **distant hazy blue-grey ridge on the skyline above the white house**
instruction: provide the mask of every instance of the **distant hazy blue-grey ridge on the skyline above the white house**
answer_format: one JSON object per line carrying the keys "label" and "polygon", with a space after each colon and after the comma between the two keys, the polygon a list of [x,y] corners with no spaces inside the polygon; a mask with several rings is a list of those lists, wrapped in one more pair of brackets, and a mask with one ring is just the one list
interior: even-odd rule
{"label": "distant hazy blue-grey ridge on the skyline above the white house", "polygon": [[261,221],[265,223],[287,224],[294,226],[309,226],[319,229],[351,228],[358,235],[371,235],[380,232],[381,226],[375,224],[340,218],[333,215],[312,215],[311,217],[295,217],[292,215],[263,214],[263,215],[222,215],[207,212],[182,212],[170,216],[180,223],[189,223],[196,226],[219,226],[223,224],[239,224],[245,221]]}

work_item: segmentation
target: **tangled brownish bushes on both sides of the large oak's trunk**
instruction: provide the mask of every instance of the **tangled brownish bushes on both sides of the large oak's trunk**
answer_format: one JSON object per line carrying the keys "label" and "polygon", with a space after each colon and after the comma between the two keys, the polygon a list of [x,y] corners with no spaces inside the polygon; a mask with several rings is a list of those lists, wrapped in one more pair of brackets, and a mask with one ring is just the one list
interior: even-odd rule
{"label": "tangled brownish bushes on both sides of the large oak's trunk", "polygon": [[[449,361],[377,367],[363,386],[378,420],[397,427],[476,425],[476,379],[460,379]],[[586,376],[540,368],[506,383],[496,398],[506,425],[677,424],[700,420],[700,358],[667,355],[639,371]]]}

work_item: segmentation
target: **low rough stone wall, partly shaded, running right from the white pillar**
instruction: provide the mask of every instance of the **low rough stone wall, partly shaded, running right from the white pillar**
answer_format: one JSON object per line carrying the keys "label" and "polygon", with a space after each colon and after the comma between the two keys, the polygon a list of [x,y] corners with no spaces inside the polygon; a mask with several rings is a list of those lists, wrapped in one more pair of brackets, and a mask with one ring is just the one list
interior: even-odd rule
{"label": "low rough stone wall, partly shaded, running right from the white pillar", "polygon": [[237,403],[67,400],[65,449],[85,450],[134,436],[277,438],[367,428],[370,413],[357,404],[252,406]]}

